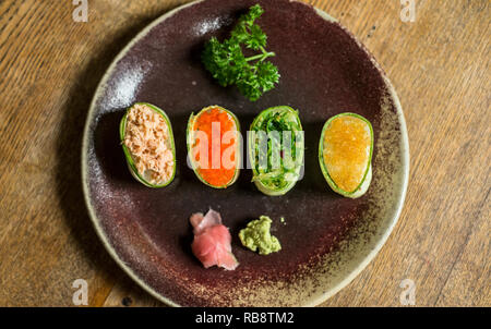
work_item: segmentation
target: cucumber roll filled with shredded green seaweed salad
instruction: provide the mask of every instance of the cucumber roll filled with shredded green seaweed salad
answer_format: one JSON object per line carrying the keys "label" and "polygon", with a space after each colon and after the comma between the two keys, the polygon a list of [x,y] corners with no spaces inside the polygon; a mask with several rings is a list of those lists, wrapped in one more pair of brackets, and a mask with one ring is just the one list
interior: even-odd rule
{"label": "cucumber roll filled with shredded green seaweed salad", "polygon": [[249,158],[256,187],[266,195],[290,191],[303,164],[303,130],[298,112],[280,106],[262,111],[249,133]]}

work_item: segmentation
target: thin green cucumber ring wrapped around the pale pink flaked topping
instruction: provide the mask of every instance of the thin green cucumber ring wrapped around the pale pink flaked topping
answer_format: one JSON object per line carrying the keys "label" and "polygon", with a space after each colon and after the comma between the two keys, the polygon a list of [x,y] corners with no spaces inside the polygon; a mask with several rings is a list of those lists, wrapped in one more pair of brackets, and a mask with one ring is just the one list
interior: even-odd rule
{"label": "thin green cucumber ring wrapped around the pale pink flaked topping", "polygon": [[[171,145],[172,158],[173,158],[173,168],[172,168],[172,174],[169,178],[169,180],[166,181],[166,182],[163,182],[161,184],[157,184],[157,185],[156,184],[152,184],[147,180],[145,180],[144,173],[141,173],[141,172],[137,171],[130,149],[124,145],[124,136],[125,136],[125,130],[127,130],[128,113],[136,105],[146,106],[149,109],[152,109],[153,111],[155,111],[156,113],[160,114],[164,118],[164,121],[167,123],[167,126],[168,126],[168,130],[169,130],[170,145]],[[145,185],[147,187],[152,187],[152,188],[165,187],[165,186],[169,185],[173,181],[173,178],[176,175],[176,145],[175,145],[175,142],[173,142],[172,125],[170,124],[170,120],[167,117],[165,111],[163,111],[158,107],[156,107],[156,106],[154,106],[152,103],[148,103],[148,102],[136,102],[136,103],[132,105],[131,107],[129,107],[127,109],[127,112],[124,113],[123,118],[121,119],[121,122],[119,124],[119,137],[121,139],[121,146],[122,146],[122,149],[123,149],[123,153],[124,153],[124,157],[127,159],[128,169],[130,170],[132,176],[136,181],[139,181],[143,185]]]}

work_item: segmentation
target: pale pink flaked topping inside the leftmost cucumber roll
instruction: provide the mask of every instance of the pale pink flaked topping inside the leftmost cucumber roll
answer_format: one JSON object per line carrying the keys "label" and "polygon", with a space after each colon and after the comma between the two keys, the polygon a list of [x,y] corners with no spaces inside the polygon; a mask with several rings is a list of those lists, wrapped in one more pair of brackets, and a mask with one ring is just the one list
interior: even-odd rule
{"label": "pale pink flaked topping inside the leftmost cucumber roll", "polygon": [[146,105],[134,105],[127,117],[124,145],[139,173],[151,184],[167,182],[173,171],[169,127],[164,118]]}

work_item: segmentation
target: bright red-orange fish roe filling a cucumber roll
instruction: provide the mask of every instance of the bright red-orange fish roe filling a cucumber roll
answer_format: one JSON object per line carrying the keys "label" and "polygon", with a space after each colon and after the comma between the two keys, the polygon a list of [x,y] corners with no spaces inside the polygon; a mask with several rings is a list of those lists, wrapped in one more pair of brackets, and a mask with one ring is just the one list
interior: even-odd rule
{"label": "bright red-orange fish roe filling a cucumber roll", "polygon": [[[215,123],[215,124],[213,124]],[[218,129],[219,123],[219,131]],[[194,160],[199,163],[197,173],[200,176],[207,182],[208,184],[213,186],[226,186],[230,183],[230,181],[235,178],[237,163],[236,163],[236,150],[237,150],[237,138],[230,138],[229,143],[223,143],[224,134],[227,132],[236,132],[237,131],[237,124],[233,121],[233,118],[224,111],[223,109],[218,107],[211,107],[207,110],[201,112],[193,125],[194,132],[204,132],[207,136],[207,162],[206,158],[200,159],[200,137],[196,136],[196,139],[193,144],[193,150],[194,150]],[[212,131],[216,129],[216,131],[213,132],[212,139]],[[232,151],[228,150],[228,154],[226,158],[224,159],[224,153],[227,149],[230,149],[232,146]],[[214,154],[218,151],[219,148],[219,163],[216,161],[218,159],[217,155]],[[215,161],[214,161],[215,159]],[[232,161],[233,166],[229,166],[230,163],[223,163],[227,160]],[[217,166],[218,164],[218,166]],[[228,164],[228,166],[226,166]],[[218,167],[218,168],[216,168]],[[230,168],[231,167],[231,168]]]}

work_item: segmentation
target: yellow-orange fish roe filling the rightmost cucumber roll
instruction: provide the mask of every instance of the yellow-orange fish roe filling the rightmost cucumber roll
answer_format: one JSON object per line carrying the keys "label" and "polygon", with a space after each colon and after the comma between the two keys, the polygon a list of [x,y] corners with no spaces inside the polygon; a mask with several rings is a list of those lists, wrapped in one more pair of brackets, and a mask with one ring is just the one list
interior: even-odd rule
{"label": "yellow-orange fish roe filling the rightmost cucumber roll", "polygon": [[361,183],[370,159],[371,134],[367,123],[356,117],[333,119],[324,134],[324,163],[334,183],[354,192]]}

